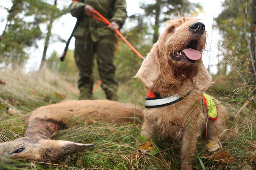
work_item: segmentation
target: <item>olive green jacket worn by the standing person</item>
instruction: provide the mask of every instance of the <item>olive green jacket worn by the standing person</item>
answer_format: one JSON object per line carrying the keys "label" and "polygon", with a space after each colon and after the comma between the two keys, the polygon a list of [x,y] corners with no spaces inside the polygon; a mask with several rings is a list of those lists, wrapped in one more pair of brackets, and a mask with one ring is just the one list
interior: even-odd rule
{"label": "olive green jacket worn by the standing person", "polygon": [[96,11],[103,15],[110,22],[115,21],[120,28],[127,18],[125,0],[73,0],[70,4],[70,12],[73,17],[80,18],[79,25],[74,33],[74,37],[87,38],[89,35],[93,42],[103,38],[116,40],[115,33],[107,28],[107,24],[98,21],[93,17],[84,14],[85,5],[91,5]]}

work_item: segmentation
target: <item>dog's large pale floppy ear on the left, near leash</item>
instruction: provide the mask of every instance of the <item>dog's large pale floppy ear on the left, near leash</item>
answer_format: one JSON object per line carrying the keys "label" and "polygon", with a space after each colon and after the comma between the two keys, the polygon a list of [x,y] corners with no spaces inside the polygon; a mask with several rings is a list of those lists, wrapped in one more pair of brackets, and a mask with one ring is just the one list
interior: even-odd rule
{"label": "dog's large pale floppy ear on the left, near leash", "polygon": [[142,62],[136,76],[134,76],[138,78],[146,88],[151,88],[160,75],[158,54],[158,45],[156,43]]}

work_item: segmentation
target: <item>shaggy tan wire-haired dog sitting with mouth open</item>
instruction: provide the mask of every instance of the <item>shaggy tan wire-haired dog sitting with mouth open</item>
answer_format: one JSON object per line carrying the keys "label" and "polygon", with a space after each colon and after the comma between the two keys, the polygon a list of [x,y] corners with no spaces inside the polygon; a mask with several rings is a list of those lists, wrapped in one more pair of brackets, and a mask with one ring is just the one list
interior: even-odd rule
{"label": "shaggy tan wire-haired dog sitting with mouth open", "polygon": [[180,138],[182,170],[193,169],[192,158],[202,131],[206,138],[218,136],[226,124],[226,111],[219,101],[215,100],[216,120],[203,112],[202,92],[212,84],[201,59],[205,44],[205,25],[197,19],[179,16],[167,21],[135,76],[152,92],[149,94],[155,94],[153,100],[146,99],[142,135]]}

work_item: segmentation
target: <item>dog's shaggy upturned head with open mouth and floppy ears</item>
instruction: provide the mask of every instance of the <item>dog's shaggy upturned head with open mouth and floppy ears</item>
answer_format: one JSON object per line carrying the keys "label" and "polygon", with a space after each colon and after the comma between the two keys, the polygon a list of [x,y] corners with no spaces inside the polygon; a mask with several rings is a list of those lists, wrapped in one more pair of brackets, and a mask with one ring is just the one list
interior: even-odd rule
{"label": "dog's shaggy upturned head with open mouth and floppy ears", "polygon": [[142,62],[135,77],[148,90],[162,95],[191,81],[202,92],[212,83],[201,55],[206,45],[205,25],[195,18],[167,21],[164,32]]}

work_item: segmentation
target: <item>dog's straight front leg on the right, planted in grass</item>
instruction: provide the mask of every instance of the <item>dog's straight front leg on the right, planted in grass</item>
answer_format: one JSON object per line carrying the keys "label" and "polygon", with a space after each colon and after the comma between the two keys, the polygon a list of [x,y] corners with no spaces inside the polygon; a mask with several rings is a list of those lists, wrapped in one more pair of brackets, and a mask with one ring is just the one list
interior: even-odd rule
{"label": "dog's straight front leg on the right, planted in grass", "polygon": [[[193,127],[193,126],[192,126]],[[181,146],[181,170],[193,169],[193,157],[196,150],[197,138],[200,136],[199,129],[185,130]]]}

